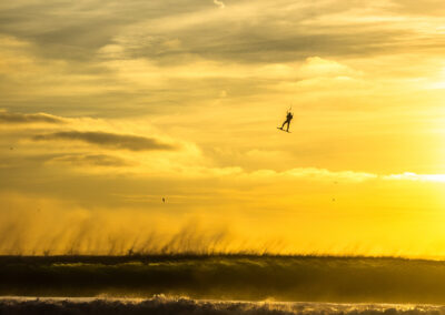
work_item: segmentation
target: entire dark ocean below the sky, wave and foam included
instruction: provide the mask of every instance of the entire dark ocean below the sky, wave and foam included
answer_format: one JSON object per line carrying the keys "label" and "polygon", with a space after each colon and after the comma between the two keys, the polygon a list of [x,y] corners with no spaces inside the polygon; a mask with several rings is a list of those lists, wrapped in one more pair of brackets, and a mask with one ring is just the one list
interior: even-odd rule
{"label": "entire dark ocean below the sky, wave and foam included", "polygon": [[2,256],[0,314],[445,314],[445,262]]}

